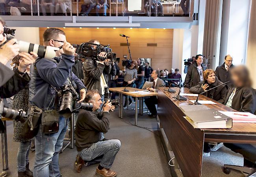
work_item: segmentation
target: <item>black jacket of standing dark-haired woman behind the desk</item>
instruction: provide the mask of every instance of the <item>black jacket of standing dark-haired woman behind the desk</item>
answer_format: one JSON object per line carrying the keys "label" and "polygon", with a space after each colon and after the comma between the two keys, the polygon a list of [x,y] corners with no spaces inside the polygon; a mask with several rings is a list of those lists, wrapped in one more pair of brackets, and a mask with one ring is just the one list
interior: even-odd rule
{"label": "black jacket of standing dark-haired woman behind the desk", "polygon": [[[204,71],[206,69],[205,66],[204,65],[201,65],[201,66],[202,66],[202,70]],[[197,71],[197,62],[195,62],[192,65],[190,65],[188,68],[184,85],[186,84],[185,87],[191,88],[198,85],[199,82],[200,82],[200,76]]]}

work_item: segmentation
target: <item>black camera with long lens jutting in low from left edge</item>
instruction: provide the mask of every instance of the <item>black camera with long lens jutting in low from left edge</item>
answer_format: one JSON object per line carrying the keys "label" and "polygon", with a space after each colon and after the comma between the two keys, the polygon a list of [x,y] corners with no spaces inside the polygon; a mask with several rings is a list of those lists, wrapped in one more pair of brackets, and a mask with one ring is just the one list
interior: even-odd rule
{"label": "black camera with long lens jutting in low from left edge", "polygon": [[[2,114],[3,117],[10,118],[15,121],[25,122],[24,117],[26,115],[26,111],[23,111],[22,109],[18,110],[6,107],[2,101],[0,102],[0,114]],[[3,132],[4,129],[4,124],[0,119],[0,132]]]}

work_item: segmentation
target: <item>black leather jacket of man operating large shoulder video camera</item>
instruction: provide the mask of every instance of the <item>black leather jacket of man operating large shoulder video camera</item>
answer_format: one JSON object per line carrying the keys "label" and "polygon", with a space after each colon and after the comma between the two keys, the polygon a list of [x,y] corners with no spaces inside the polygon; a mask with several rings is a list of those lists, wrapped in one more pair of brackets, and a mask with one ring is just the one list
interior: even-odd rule
{"label": "black leather jacket of man operating large shoulder video camera", "polygon": [[[91,57],[86,57],[83,63],[83,79],[85,87],[88,90],[98,89],[101,92],[100,76],[102,73],[103,75],[109,74],[110,70],[110,65],[97,63]],[[108,84],[107,80],[106,83]]]}

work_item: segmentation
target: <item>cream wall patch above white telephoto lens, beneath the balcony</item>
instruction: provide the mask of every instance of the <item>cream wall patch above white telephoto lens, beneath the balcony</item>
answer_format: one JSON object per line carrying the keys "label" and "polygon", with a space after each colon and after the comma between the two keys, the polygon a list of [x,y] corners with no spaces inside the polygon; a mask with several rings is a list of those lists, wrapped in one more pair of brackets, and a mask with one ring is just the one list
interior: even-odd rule
{"label": "cream wall patch above white telephoto lens, beneath the balcony", "polygon": [[15,38],[18,41],[26,41],[33,44],[39,44],[39,28],[33,27],[11,27],[11,29],[16,29]]}

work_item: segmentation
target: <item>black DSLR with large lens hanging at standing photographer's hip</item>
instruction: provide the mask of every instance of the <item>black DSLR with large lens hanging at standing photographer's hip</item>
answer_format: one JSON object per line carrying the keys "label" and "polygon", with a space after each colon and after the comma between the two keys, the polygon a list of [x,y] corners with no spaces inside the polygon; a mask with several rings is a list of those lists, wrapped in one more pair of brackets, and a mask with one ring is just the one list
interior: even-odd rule
{"label": "black DSLR with large lens hanging at standing photographer's hip", "polygon": [[73,86],[64,85],[63,89],[58,92],[58,96],[61,97],[59,108],[61,114],[79,112],[80,109],[93,109],[92,103],[78,103],[78,94]]}

